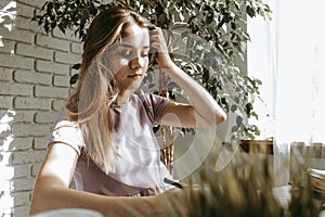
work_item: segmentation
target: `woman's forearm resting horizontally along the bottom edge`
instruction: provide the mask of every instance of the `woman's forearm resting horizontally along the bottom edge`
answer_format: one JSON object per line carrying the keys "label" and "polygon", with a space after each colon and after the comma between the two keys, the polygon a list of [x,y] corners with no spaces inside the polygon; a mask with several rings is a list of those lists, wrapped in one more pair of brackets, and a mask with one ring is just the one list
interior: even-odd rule
{"label": "woman's forearm resting horizontally along the bottom edge", "polygon": [[[161,200],[160,200],[161,201]],[[167,210],[156,196],[105,196],[74,189],[52,188],[35,192],[30,214],[56,208],[87,208],[103,216],[166,216]],[[172,212],[172,210],[170,210]],[[135,215],[136,214],[136,215]],[[141,215],[140,215],[141,214]]]}

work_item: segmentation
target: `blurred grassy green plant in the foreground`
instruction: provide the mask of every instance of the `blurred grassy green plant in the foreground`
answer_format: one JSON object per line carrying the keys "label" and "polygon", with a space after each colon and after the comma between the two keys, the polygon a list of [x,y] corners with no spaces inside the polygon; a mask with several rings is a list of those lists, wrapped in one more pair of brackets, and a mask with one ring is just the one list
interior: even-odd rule
{"label": "blurred grassy green plant in the foreground", "polygon": [[[203,165],[186,181],[181,199],[190,217],[318,217],[325,209],[325,195],[315,197],[304,165],[298,170],[291,175],[287,205],[274,192],[275,175],[268,158],[251,154],[236,155],[219,173]],[[167,204],[172,203],[168,200]]]}

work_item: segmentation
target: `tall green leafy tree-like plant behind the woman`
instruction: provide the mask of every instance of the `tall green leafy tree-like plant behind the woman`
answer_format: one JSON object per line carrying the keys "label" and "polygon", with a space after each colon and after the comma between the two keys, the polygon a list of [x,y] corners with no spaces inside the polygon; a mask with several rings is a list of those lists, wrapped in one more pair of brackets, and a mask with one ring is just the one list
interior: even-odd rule
{"label": "tall green leafy tree-like plant behind the woman", "polygon": [[[63,33],[73,29],[83,41],[92,18],[112,5],[131,8],[143,14],[166,29],[169,39],[173,37],[172,31],[181,26],[182,39],[186,42],[186,58],[172,58],[226,112],[236,114],[236,125],[232,128],[234,138],[253,139],[259,135],[258,127],[246,120],[258,118],[251,99],[259,97],[261,81],[242,72],[237,60],[244,61],[249,40],[245,28],[246,17],[259,15],[270,18],[268,4],[262,0],[115,0],[109,3],[100,0],[52,0],[47,1],[32,20],[43,26],[48,34],[55,28]],[[203,47],[202,41],[206,46]],[[79,66],[76,64],[73,68],[78,69]],[[70,84],[74,85],[77,79],[78,74],[72,77]]]}

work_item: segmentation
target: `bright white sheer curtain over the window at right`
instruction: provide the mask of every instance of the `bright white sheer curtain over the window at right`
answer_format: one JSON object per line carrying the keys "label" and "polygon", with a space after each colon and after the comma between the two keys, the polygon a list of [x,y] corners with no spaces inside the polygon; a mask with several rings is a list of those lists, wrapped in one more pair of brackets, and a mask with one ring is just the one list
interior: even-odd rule
{"label": "bright white sheer curtain over the window at right", "polygon": [[[286,184],[290,145],[325,143],[325,1],[265,2],[272,21],[248,21],[248,74],[263,81],[257,124],[274,137],[277,184]],[[323,158],[312,165],[317,168],[325,167]]]}

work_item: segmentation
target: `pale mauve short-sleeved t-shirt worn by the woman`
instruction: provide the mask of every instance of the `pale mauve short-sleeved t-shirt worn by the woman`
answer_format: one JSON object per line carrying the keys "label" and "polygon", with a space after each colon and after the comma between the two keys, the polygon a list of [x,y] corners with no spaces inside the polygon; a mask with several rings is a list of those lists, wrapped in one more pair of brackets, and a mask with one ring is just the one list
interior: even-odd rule
{"label": "pale mauve short-sleeved t-shirt worn by the woman", "polygon": [[113,118],[120,117],[119,128],[113,133],[118,155],[114,158],[115,170],[107,175],[89,158],[78,125],[60,115],[49,144],[63,142],[74,148],[78,161],[74,174],[76,188],[98,194],[113,193],[118,196],[141,194],[148,188],[167,190],[164,178],[170,174],[160,162],[160,149],[153,132],[168,99],[136,91],[128,103],[110,108]]}

